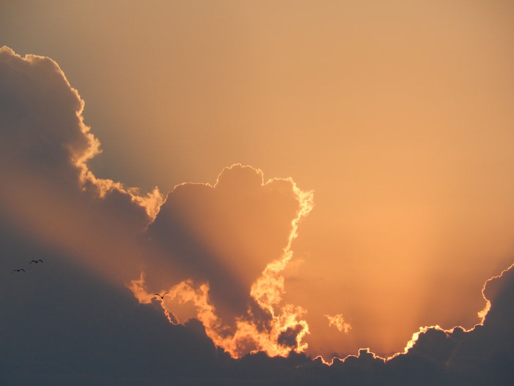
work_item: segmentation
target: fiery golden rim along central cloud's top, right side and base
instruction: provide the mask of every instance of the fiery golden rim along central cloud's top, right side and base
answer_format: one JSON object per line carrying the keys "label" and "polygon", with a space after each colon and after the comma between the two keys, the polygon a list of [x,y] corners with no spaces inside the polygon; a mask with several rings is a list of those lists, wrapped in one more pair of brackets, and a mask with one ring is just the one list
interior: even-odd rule
{"label": "fiery golden rim along central cloud's top, right side and base", "polygon": [[[165,290],[169,292],[167,300],[174,300],[179,304],[187,302],[194,304],[197,310],[197,318],[204,324],[207,335],[213,340],[214,344],[223,347],[234,358],[240,358],[248,354],[246,347],[249,342],[255,347],[255,349],[250,350],[250,353],[265,352],[270,357],[285,357],[291,352],[291,349],[297,353],[302,353],[308,346],[307,343],[303,342],[303,338],[305,335],[310,334],[307,322],[302,319],[307,311],[300,306],[283,304],[282,295],[285,289],[282,272],[293,257],[291,244],[298,237],[299,222],[314,207],[314,191],[301,190],[290,177],[285,179],[273,178],[264,183],[262,170],[241,164],[233,164],[224,168],[218,174],[217,182],[214,186],[210,184],[204,185],[216,188],[223,172],[234,167],[251,168],[254,170],[261,177],[261,186],[266,186],[276,181],[290,183],[295,199],[299,203],[296,217],[292,219],[290,224],[289,237],[287,245],[283,248],[282,256],[267,264],[250,289],[250,296],[266,313],[271,315],[269,327],[263,331],[258,326],[257,322],[259,321],[254,320],[251,310],[248,309],[248,313],[245,316],[250,318],[237,318],[234,334],[229,336],[220,334],[219,331],[223,331],[224,328],[216,315],[215,307],[209,302],[209,283],[194,283],[191,278],[183,280],[171,288],[167,288]],[[132,290],[139,302],[151,303],[155,295],[146,290],[144,277],[144,273],[141,272],[139,279],[132,280],[127,287]],[[161,306],[170,323],[178,323],[176,316],[168,310],[163,301]],[[295,347],[280,343],[281,337],[287,334],[294,335]]]}

